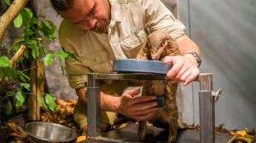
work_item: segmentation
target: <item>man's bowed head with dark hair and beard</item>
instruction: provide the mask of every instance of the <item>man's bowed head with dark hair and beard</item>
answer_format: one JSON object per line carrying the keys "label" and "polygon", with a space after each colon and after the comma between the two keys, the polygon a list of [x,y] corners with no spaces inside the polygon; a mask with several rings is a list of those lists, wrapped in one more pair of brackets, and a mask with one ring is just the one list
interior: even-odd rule
{"label": "man's bowed head with dark hair and beard", "polygon": [[84,30],[108,32],[110,4],[108,0],[50,0],[65,19]]}

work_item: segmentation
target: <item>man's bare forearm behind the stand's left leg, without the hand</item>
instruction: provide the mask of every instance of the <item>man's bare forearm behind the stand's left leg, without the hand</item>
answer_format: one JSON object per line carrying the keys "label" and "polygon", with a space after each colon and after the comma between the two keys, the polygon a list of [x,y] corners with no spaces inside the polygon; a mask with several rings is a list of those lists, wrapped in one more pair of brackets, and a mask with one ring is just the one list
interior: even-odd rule
{"label": "man's bare forearm behind the stand's left leg, without the hand", "polygon": [[[84,88],[75,89],[77,95],[79,96],[79,100],[82,103],[86,104],[87,99],[85,97]],[[101,108],[102,110],[108,112],[117,112],[117,108],[120,104],[120,97],[115,97],[109,94],[104,94],[101,92]]]}

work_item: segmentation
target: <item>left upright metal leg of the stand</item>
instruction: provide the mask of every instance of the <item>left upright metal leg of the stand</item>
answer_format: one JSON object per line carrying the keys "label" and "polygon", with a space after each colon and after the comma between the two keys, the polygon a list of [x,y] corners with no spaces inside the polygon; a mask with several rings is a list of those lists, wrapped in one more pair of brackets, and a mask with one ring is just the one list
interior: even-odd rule
{"label": "left upright metal leg of the stand", "polygon": [[87,98],[87,134],[88,140],[96,140],[101,136],[101,98],[99,80],[88,74],[88,85],[86,86]]}

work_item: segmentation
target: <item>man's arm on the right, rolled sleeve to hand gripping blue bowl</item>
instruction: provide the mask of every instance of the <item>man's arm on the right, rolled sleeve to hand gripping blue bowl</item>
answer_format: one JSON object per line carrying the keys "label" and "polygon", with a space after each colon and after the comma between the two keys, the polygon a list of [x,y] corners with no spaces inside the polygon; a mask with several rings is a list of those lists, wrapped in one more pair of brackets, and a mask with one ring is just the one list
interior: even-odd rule
{"label": "man's arm on the right, rolled sleeve to hand gripping blue bowl", "polygon": [[172,63],[172,69],[167,72],[166,78],[171,79],[173,83],[182,82],[189,84],[199,75],[198,63],[190,52],[199,54],[197,45],[184,35],[185,26],[177,20],[166,6],[160,0],[148,2],[142,1],[145,26],[150,31],[165,31],[173,39],[177,39],[178,49],[181,55],[166,56],[167,63]]}

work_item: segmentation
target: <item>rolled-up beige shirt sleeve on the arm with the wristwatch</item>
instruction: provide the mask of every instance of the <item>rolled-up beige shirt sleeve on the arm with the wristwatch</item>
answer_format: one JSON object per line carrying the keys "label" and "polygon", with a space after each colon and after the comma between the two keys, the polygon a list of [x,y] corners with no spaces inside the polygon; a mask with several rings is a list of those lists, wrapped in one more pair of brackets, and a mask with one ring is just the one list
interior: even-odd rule
{"label": "rolled-up beige shirt sleeve on the arm with the wristwatch", "polygon": [[143,0],[146,26],[150,31],[162,30],[172,38],[184,35],[185,26],[177,20],[172,12],[160,0]]}

